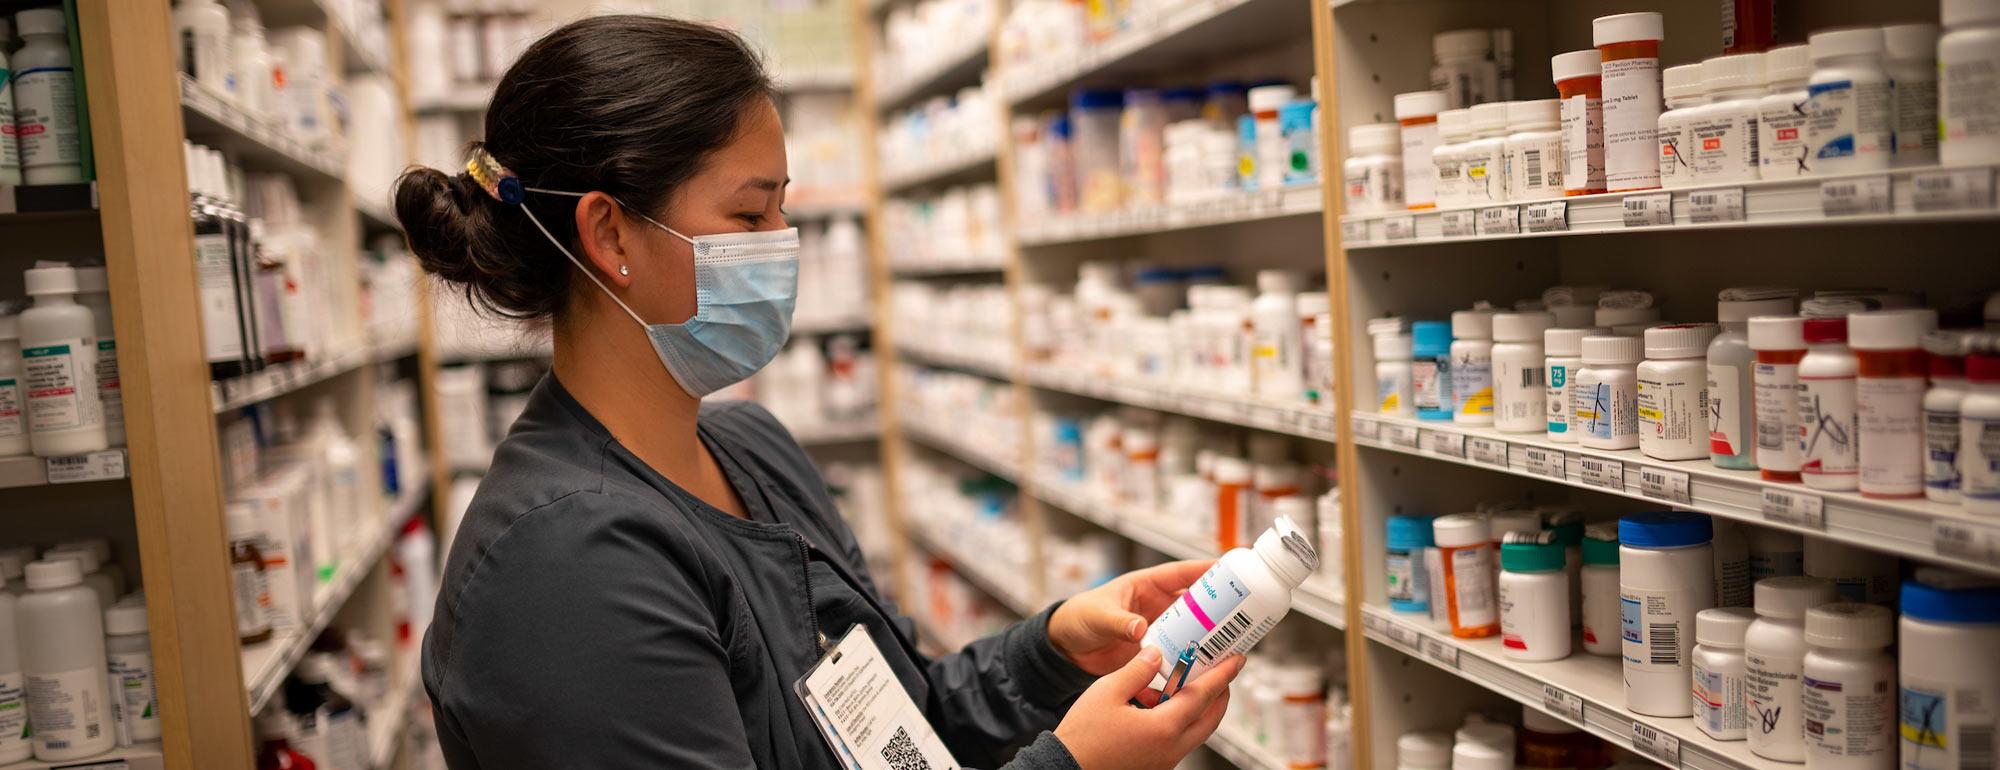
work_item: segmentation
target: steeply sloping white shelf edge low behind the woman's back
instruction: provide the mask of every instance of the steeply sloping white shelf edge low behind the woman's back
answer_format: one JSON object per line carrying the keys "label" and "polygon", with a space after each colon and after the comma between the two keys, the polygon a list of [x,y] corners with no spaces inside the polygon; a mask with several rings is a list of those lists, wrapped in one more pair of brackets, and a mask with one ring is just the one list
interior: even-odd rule
{"label": "steeply sloping white shelf edge low behind the woman's back", "polygon": [[[424,478],[424,474],[418,474]],[[270,640],[258,644],[246,644],[242,648],[244,658],[244,688],[250,692],[250,714],[258,714],[270,704],[270,698],[278,694],[278,684],[284,676],[298,666],[298,660],[306,656],[306,648],[312,640],[320,636],[322,630],[340,608],[348,604],[354,596],[354,588],[362,584],[362,578],[374,570],[382,554],[396,540],[396,532],[402,532],[402,524],[416,514],[424,502],[430,500],[430,484],[418,482],[416,488],[408,490],[402,498],[392,502],[376,524],[376,530],[368,534],[362,542],[360,552],[350,554],[340,560],[340,568],[334,570],[334,578],[322,584],[314,592],[314,610],[306,628],[290,628],[272,634]]]}

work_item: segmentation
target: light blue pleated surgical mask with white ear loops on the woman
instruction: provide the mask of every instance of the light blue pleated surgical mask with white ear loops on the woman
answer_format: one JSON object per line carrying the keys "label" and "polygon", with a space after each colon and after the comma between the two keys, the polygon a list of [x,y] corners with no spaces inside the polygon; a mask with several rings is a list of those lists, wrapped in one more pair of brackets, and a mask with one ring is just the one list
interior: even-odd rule
{"label": "light blue pleated surgical mask with white ear loops on the woman", "polygon": [[[580,192],[538,190],[582,198]],[[626,208],[638,214],[630,206]],[[624,300],[598,280],[596,272],[570,254],[556,236],[534,218],[548,242],[562,250],[584,278],[598,284],[612,302],[646,328],[652,350],[666,372],[694,398],[708,396],[748,380],[784,348],[792,334],[792,306],[798,302],[798,228],[766,232],[726,232],[688,238],[646,214],[652,226],[694,246],[694,316],[682,324],[648,324]]]}

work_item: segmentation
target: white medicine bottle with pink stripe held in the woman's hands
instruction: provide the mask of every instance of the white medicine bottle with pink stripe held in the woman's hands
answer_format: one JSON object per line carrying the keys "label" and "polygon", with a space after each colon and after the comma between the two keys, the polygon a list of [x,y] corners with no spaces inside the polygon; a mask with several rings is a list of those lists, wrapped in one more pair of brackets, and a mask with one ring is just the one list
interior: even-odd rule
{"label": "white medicine bottle with pink stripe held in the woman's hands", "polygon": [[1292,590],[1318,566],[1312,534],[1290,518],[1278,518],[1250,548],[1222,554],[1146,630],[1142,644],[1160,648],[1154,686],[1178,692],[1218,660],[1250,652],[1292,610]]}

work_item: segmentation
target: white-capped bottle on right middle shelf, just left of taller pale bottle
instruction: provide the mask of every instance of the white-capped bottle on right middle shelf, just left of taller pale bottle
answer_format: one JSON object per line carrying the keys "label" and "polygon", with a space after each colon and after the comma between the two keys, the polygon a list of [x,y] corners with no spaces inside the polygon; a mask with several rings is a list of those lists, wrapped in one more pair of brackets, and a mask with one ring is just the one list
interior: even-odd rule
{"label": "white-capped bottle on right middle shelf, just left of taller pale bottle", "polygon": [[1716,324],[1646,330],[1638,364],[1638,450],[1658,460],[1708,456],[1708,342]]}

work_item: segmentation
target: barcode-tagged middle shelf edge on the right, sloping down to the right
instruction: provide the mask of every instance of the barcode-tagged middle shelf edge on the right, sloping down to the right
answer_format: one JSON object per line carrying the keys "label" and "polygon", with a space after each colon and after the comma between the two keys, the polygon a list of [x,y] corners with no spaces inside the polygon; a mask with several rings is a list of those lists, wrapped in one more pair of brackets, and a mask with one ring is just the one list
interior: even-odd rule
{"label": "barcode-tagged middle shelf edge on the right, sloping down to the right", "polygon": [[[1826,536],[1904,558],[2000,574],[2000,522],[1968,514],[1954,504],[1810,490],[1804,484],[1766,482],[1756,470],[1716,468],[1706,458],[1654,460],[1638,450],[1586,450],[1550,442],[1548,434],[1540,432],[1502,434],[1494,428],[1382,414],[1354,414],[1350,430],[1360,446],[1622,494],[1660,506]],[[1560,478],[1554,474],[1558,462]],[[1818,508],[1818,514],[1812,514],[1812,508]]]}

